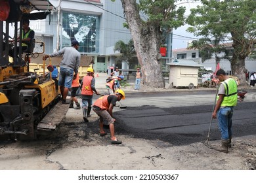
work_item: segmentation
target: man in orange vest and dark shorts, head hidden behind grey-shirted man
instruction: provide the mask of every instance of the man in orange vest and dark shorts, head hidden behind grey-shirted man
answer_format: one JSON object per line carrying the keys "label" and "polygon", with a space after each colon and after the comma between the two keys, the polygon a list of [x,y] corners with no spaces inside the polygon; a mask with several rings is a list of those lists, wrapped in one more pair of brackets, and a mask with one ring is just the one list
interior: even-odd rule
{"label": "man in orange vest and dark shorts, head hidden behind grey-shirted man", "polygon": [[[77,73],[77,75],[74,75],[76,76],[75,78],[73,78],[73,81],[72,81],[72,88],[70,90],[70,96],[71,96],[71,99],[70,99],[70,108],[74,108],[74,109],[80,109],[80,104],[79,102],[77,101],[77,98],[76,98],[76,95],[77,95],[77,91],[79,91],[79,87],[80,87],[80,84],[79,84],[79,75]],[[74,107],[74,101],[75,101],[75,105],[76,107]]]}

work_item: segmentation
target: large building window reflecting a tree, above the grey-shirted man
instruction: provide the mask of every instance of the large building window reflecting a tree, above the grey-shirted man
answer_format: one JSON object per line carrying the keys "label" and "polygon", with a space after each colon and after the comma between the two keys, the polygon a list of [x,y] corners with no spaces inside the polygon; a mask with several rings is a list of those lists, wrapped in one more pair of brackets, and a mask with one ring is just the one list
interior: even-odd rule
{"label": "large building window reflecting a tree, above the grey-shirted man", "polygon": [[70,46],[76,39],[79,42],[79,52],[99,52],[99,16],[78,12],[63,12],[62,14],[62,48]]}

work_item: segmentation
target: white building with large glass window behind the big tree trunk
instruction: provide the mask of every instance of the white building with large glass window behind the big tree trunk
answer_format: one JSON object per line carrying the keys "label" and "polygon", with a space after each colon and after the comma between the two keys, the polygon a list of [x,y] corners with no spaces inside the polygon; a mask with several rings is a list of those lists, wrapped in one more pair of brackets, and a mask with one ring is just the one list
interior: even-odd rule
{"label": "white building with large glass window behind the big tree trunk", "polygon": [[[127,43],[131,39],[129,29],[123,27],[125,18],[121,1],[51,0],[51,3],[56,7],[56,11],[51,16],[46,20],[30,23],[37,41],[45,42],[45,54],[56,51],[58,45],[60,48],[70,46],[70,42],[76,39],[80,44],[79,52],[82,57],[94,57],[95,71],[106,71],[109,67],[115,66],[120,69],[133,69],[132,65],[128,66],[124,61],[121,65],[116,65],[116,56],[119,52],[114,52],[114,45],[117,41]],[[59,4],[60,16],[58,16]],[[58,35],[60,35],[59,44]],[[167,44],[169,42],[171,35]],[[167,56],[163,59],[171,60],[170,50],[171,47],[167,49]]]}

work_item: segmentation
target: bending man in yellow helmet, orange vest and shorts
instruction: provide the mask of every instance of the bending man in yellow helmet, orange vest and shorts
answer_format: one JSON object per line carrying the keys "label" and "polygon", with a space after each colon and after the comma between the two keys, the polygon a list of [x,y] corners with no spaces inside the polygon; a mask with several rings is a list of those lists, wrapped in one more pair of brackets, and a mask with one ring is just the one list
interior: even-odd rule
{"label": "bending man in yellow helmet, orange vest and shorts", "polygon": [[113,118],[113,107],[116,105],[116,101],[125,99],[125,92],[119,89],[116,90],[114,95],[104,95],[98,98],[93,104],[93,111],[100,117],[100,137],[104,137],[107,133],[103,129],[103,121],[110,126],[111,144],[121,144],[115,136],[114,122]]}

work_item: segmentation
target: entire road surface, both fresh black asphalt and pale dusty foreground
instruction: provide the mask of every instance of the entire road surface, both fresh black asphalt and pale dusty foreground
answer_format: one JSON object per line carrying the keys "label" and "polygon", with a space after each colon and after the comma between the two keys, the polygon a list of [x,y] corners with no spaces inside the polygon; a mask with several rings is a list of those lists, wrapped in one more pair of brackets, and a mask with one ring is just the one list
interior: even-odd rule
{"label": "entire road surface, both fresh black asphalt and pale dusty foreground", "polygon": [[[126,97],[121,104],[127,108],[114,108],[122,144],[110,144],[108,129],[100,137],[95,112],[85,123],[82,110],[70,108],[54,133],[37,141],[0,141],[0,170],[255,169],[255,92],[234,110],[228,154],[201,143],[207,139],[215,91],[127,92]],[[211,146],[218,146],[220,137],[213,120]]]}

